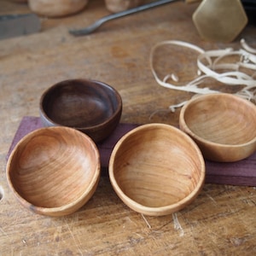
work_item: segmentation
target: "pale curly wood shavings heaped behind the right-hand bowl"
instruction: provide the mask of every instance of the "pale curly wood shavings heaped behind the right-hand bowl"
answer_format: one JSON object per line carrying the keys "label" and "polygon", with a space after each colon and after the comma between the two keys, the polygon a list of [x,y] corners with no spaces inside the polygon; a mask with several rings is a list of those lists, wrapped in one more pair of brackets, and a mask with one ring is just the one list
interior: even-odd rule
{"label": "pale curly wood shavings heaped behind the right-hand bowl", "polygon": [[[163,45],[172,44],[177,47],[184,47],[195,50],[198,53],[195,65],[198,67],[197,77],[186,84],[176,85],[180,79],[176,73],[170,73],[164,79],[160,79],[154,70],[154,53],[155,50]],[[158,84],[172,90],[183,90],[193,92],[195,94],[212,94],[219,93],[218,90],[212,90],[208,87],[198,87],[206,79],[215,79],[225,85],[243,85],[243,89],[236,92],[237,96],[256,102],[256,49],[250,47],[244,39],[241,39],[242,49],[214,49],[207,50],[189,44],[183,41],[169,40],[154,45],[149,56],[149,64],[154,79]],[[237,57],[238,61],[230,62],[229,57]],[[247,71],[247,72],[246,72]],[[170,82],[169,82],[170,81]],[[169,109],[174,112],[176,108],[181,108],[185,102],[172,105]],[[154,112],[156,113],[156,112]]]}

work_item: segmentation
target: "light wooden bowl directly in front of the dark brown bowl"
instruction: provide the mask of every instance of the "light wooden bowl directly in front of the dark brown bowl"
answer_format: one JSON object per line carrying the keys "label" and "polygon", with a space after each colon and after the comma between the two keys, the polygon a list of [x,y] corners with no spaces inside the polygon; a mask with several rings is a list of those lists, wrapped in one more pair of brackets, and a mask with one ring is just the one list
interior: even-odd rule
{"label": "light wooden bowl directly in front of the dark brown bowl", "polygon": [[21,205],[42,215],[64,216],[79,210],[100,178],[96,144],[69,127],[32,131],[15,146],[7,180]]}

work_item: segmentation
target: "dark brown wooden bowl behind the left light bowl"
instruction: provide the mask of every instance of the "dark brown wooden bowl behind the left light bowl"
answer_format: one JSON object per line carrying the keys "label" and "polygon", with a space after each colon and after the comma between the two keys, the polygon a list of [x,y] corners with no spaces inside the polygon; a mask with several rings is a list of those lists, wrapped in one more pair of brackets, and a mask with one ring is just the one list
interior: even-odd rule
{"label": "dark brown wooden bowl behind the left light bowl", "polygon": [[71,79],[49,87],[40,100],[44,126],[62,125],[83,131],[96,143],[108,137],[122,113],[117,90],[95,80]]}

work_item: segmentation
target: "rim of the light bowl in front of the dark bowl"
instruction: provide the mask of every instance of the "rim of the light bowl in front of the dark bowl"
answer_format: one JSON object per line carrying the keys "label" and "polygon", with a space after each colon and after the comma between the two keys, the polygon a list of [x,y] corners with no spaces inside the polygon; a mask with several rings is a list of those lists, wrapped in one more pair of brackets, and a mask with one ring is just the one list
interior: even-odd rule
{"label": "rim of the light bowl in front of the dark bowl", "polygon": [[[89,186],[84,190],[82,195],[80,195],[74,201],[72,201],[70,203],[67,203],[67,204],[64,204],[60,207],[38,207],[38,206],[32,204],[30,201],[27,201],[24,197],[22,197],[20,195],[20,193],[15,189],[15,186],[13,185],[12,179],[10,177],[11,162],[14,159],[18,148],[20,148],[21,145],[26,143],[27,139],[29,139],[30,137],[32,137],[34,135],[37,135],[38,133],[40,133],[42,131],[49,131],[49,130],[57,130],[57,131],[58,130],[61,130],[61,131],[68,131],[69,130],[69,131],[73,131],[74,133],[79,134],[79,136],[84,137],[86,140],[88,140],[90,142],[90,145],[92,146],[92,148],[94,149],[94,153],[96,154],[96,161],[97,161],[96,169],[94,169],[94,175],[91,178]],[[7,182],[9,184],[9,188],[14,193],[16,199],[18,199],[18,201],[20,201],[21,205],[23,205],[27,209],[30,209],[32,212],[37,212],[37,213],[40,213],[40,214],[51,215],[51,216],[54,216],[55,213],[67,212],[68,210],[72,210],[73,207],[75,207],[76,205],[78,205],[81,202],[83,202],[83,204],[81,205],[81,207],[82,207],[84,205],[84,203],[86,202],[86,197],[90,194],[93,195],[93,193],[95,192],[97,183],[99,182],[100,174],[101,174],[100,154],[99,154],[99,151],[96,147],[96,143],[94,143],[94,141],[89,136],[84,134],[82,131],[78,131],[74,128],[67,127],[67,126],[43,127],[43,128],[38,128],[34,131],[29,132],[28,134],[26,134],[26,136],[22,137],[20,139],[20,141],[15,145],[15,148],[12,150],[11,154],[9,155],[9,159],[8,159],[7,165],[6,165],[6,177],[7,177]],[[72,212],[74,212],[74,211],[70,211],[69,213],[72,213]],[[69,213],[67,213],[67,214],[69,214]],[[65,213],[64,215],[67,215],[67,214]]]}

